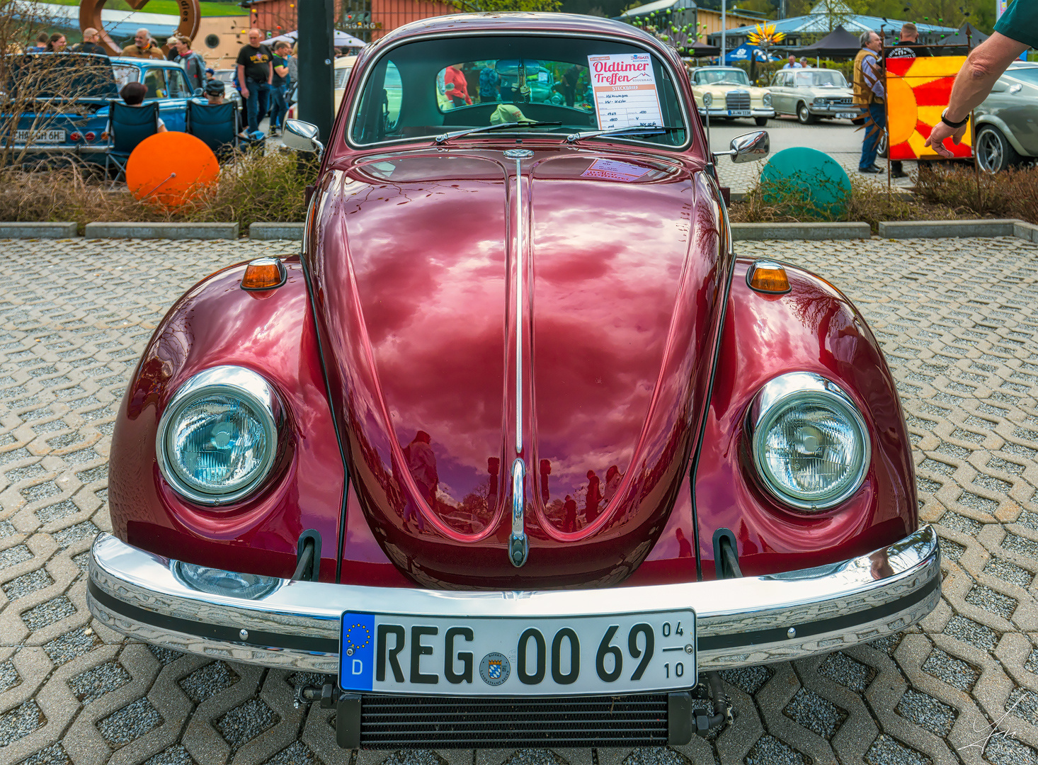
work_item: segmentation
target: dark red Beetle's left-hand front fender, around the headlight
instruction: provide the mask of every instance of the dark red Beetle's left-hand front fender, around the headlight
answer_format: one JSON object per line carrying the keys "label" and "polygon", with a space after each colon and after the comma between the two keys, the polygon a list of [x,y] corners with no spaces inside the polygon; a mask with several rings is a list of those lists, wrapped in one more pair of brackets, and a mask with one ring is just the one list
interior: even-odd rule
{"label": "dark red Beetle's left-hand front fender, around the headlight", "polygon": [[[322,539],[321,578],[335,574],[343,463],[297,257],[282,286],[241,289],[244,264],[207,277],[162,320],[115,420],[109,468],[112,530],[125,542],[189,563],[291,576],[300,535]],[[270,382],[284,406],[279,457],[255,493],[221,508],[174,493],[156,462],[156,433],[180,386],[214,366],[241,365]]]}

